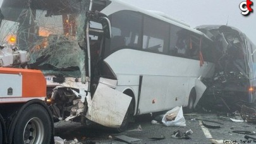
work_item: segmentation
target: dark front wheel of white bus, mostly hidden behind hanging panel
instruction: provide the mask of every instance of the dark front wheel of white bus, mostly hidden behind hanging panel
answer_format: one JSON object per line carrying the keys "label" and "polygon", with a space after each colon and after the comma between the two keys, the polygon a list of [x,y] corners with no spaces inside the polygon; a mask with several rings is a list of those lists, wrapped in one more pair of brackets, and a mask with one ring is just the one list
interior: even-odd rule
{"label": "dark front wheel of white bus, mostly hidden behind hanging panel", "polygon": [[131,103],[130,103],[130,105],[128,107],[128,110],[125,114],[125,117],[123,119],[123,123],[121,124],[121,126],[119,128],[116,128],[115,131],[118,132],[118,133],[126,131],[132,116],[133,116],[133,102],[131,100]]}

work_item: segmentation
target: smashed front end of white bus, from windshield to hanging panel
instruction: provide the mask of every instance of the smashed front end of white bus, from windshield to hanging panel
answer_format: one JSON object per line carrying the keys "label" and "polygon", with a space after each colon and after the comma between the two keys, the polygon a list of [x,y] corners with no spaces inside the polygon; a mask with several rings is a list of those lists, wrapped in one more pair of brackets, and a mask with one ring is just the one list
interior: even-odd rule
{"label": "smashed front end of white bus, from windshield to hanging panel", "polygon": [[[3,1],[2,42],[13,37],[15,46],[30,53],[28,68],[44,73],[47,104],[56,121],[90,119],[113,128],[123,122],[131,97],[116,90],[116,75],[101,56],[104,40],[111,37],[109,20],[99,12],[107,4],[107,0]],[[91,23],[101,27],[92,28]]]}

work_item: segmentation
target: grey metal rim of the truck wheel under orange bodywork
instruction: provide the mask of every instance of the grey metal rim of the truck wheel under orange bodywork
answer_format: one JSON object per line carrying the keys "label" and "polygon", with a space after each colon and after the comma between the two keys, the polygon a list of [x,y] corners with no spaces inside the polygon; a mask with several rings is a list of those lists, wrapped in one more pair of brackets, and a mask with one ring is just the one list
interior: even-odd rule
{"label": "grey metal rim of the truck wheel under orange bodywork", "polygon": [[34,117],[28,121],[23,131],[23,141],[25,144],[42,143],[44,140],[44,124]]}

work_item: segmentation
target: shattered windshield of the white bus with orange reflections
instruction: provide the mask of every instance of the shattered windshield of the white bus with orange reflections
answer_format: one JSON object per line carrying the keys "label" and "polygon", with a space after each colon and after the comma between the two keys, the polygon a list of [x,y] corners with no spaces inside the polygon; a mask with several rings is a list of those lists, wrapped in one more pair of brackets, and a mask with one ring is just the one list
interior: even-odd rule
{"label": "shattered windshield of the white bus with orange reflections", "polygon": [[28,67],[40,69],[44,75],[80,78],[85,75],[85,53],[78,42],[85,35],[88,9],[82,3],[87,2],[34,0],[20,6],[16,0],[3,1],[1,45],[30,52]]}

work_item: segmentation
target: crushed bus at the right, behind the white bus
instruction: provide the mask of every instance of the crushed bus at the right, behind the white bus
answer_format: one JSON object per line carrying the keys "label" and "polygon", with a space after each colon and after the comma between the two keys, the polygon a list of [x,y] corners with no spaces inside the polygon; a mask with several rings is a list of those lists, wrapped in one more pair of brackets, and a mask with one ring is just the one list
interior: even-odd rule
{"label": "crushed bus at the right, behind the white bus", "polygon": [[197,30],[214,40],[216,51],[214,76],[205,80],[207,95],[219,98],[229,110],[238,102],[255,102],[255,45],[234,27],[203,25]]}

